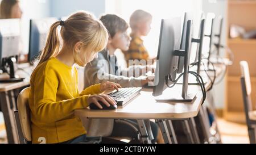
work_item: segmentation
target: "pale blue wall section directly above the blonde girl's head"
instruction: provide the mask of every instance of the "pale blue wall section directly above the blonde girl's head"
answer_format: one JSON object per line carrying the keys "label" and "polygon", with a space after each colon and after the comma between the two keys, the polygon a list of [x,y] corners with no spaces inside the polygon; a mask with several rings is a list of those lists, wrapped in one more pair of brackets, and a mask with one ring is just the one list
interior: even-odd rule
{"label": "pale blue wall section directly above the blonde girl's head", "polygon": [[86,10],[97,17],[105,12],[105,0],[53,0],[51,1],[51,16],[68,16],[74,11]]}

